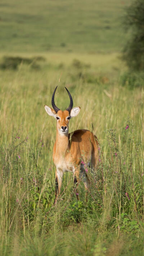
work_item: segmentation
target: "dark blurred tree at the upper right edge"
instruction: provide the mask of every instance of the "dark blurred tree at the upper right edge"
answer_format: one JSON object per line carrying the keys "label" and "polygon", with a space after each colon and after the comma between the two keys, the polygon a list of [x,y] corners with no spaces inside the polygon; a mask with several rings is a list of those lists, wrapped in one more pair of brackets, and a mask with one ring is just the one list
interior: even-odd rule
{"label": "dark blurred tree at the upper right edge", "polygon": [[130,69],[144,69],[144,0],[135,0],[126,9],[124,26],[130,38],[123,59]]}

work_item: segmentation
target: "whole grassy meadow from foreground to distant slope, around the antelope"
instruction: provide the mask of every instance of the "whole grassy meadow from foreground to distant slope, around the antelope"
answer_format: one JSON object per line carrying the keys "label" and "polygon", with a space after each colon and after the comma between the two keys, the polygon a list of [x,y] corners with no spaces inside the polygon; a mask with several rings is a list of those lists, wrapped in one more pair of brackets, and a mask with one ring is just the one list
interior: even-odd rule
{"label": "whole grassy meadow from foreground to distant slope, around the antelope", "polygon": [[[121,50],[125,1],[0,3],[0,254],[144,255],[144,75]],[[100,142],[91,189],[64,175],[53,207],[55,102],[81,112],[69,131]]]}

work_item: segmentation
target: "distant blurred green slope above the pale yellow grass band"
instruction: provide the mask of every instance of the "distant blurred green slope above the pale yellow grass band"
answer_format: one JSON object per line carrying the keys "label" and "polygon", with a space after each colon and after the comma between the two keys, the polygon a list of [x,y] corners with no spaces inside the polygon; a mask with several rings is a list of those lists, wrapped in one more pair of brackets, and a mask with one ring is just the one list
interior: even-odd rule
{"label": "distant blurred green slope above the pale yellow grass band", "polygon": [[121,22],[130,0],[5,0],[0,8],[0,51],[120,51]]}

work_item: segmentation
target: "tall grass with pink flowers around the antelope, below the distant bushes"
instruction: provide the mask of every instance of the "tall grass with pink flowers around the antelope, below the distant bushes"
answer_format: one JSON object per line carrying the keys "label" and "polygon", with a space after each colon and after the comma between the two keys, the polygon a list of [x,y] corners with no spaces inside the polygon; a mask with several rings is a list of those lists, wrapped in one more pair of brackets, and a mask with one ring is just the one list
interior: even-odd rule
{"label": "tall grass with pink flowers around the antelope, below the distant bushes", "polygon": [[[70,63],[0,71],[0,253],[142,255],[144,91],[121,87],[119,71]],[[81,107],[70,131],[92,130],[100,154],[95,172],[88,171],[88,202],[82,180],[76,200],[67,173],[54,207],[55,120],[44,104],[51,105],[57,84],[59,108],[69,104],[65,85]]]}

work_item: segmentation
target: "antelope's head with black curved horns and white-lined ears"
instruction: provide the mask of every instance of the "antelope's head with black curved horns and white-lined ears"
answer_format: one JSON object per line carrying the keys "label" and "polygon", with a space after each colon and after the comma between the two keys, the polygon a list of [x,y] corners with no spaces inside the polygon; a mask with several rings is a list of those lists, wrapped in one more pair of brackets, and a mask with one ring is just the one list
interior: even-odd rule
{"label": "antelope's head with black curved horns and white-lined ears", "polygon": [[64,111],[60,110],[54,103],[54,95],[57,87],[55,88],[52,99],[51,99],[51,104],[53,108],[50,108],[45,105],[45,110],[49,114],[49,116],[53,116],[57,120],[57,131],[59,132],[59,134],[68,135],[69,120],[71,119],[71,117],[77,116],[77,114],[80,112],[80,107],[72,108],[73,107],[72,96],[69,93],[68,89],[65,87],[70,98],[70,104],[66,110]]}

